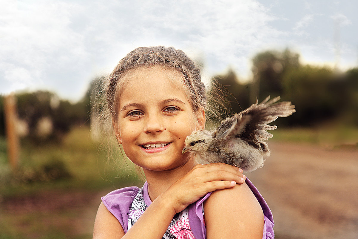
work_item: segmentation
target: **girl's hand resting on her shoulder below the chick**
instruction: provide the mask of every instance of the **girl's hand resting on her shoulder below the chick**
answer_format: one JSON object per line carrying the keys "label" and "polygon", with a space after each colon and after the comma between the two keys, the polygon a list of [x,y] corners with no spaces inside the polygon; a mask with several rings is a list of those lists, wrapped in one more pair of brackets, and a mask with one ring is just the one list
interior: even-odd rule
{"label": "girl's hand resting on her shoulder below the chick", "polygon": [[241,168],[224,163],[198,164],[162,196],[170,199],[175,213],[178,213],[208,192],[244,183],[246,176],[242,172]]}

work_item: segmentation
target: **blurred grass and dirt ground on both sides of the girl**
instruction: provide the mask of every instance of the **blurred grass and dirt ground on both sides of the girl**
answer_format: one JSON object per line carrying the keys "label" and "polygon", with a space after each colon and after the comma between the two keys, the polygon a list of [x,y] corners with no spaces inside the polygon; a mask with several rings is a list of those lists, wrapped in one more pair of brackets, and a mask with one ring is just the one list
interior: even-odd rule
{"label": "blurred grass and dirt ground on both sides of the girl", "polygon": [[[273,212],[276,238],[357,238],[357,130],[275,131],[265,167],[247,176]],[[329,135],[346,142],[337,144]],[[106,159],[86,127],[73,129],[61,145],[22,148],[25,174],[53,159],[64,163],[69,177],[21,183],[21,177],[30,178],[23,175],[9,182],[15,176],[2,167],[9,178],[0,186],[0,238],[91,238],[100,197],[142,184],[126,164]]]}

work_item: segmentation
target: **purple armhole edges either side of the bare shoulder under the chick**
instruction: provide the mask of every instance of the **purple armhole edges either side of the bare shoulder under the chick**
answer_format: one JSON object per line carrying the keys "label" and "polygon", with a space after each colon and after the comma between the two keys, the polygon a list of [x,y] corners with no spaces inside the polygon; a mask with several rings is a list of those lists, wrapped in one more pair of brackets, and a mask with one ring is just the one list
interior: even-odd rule
{"label": "purple armhole edges either side of the bare shoulder under the chick", "polygon": [[[260,192],[258,192],[257,188],[250,182],[250,180],[246,179],[246,184],[251,189],[253,194],[255,195],[257,201],[260,203],[263,211],[263,234],[262,239],[274,239],[274,218],[272,216],[271,210],[267,205],[265,199],[261,196]],[[205,239],[206,238],[206,228],[204,224],[204,215],[202,211],[203,202],[211,195],[211,192],[202,197],[194,204],[189,205],[189,223],[191,225],[191,229],[196,239]]]}

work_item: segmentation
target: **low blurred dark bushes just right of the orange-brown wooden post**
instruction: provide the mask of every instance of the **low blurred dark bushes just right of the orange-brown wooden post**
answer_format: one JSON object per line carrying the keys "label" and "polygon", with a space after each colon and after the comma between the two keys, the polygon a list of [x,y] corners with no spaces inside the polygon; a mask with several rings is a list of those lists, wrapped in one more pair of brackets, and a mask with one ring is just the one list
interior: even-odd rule
{"label": "low blurred dark bushes just right of the orange-brown wooden post", "polygon": [[17,95],[19,119],[26,122],[33,143],[60,142],[73,125],[86,123],[88,112],[83,102],[71,104],[48,91]]}

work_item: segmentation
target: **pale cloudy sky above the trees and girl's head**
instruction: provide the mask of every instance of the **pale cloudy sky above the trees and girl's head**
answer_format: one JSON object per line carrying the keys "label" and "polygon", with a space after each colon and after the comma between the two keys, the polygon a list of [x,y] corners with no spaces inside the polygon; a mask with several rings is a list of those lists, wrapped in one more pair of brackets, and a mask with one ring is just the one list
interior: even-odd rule
{"label": "pale cloudy sky above the trees and girl's head", "polygon": [[259,52],[289,48],[301,63],[358,66],[358,1],[0,0],[0,94],[50,90],[80,100],[136,47],[173,46],[203,78],[251,78]]}

